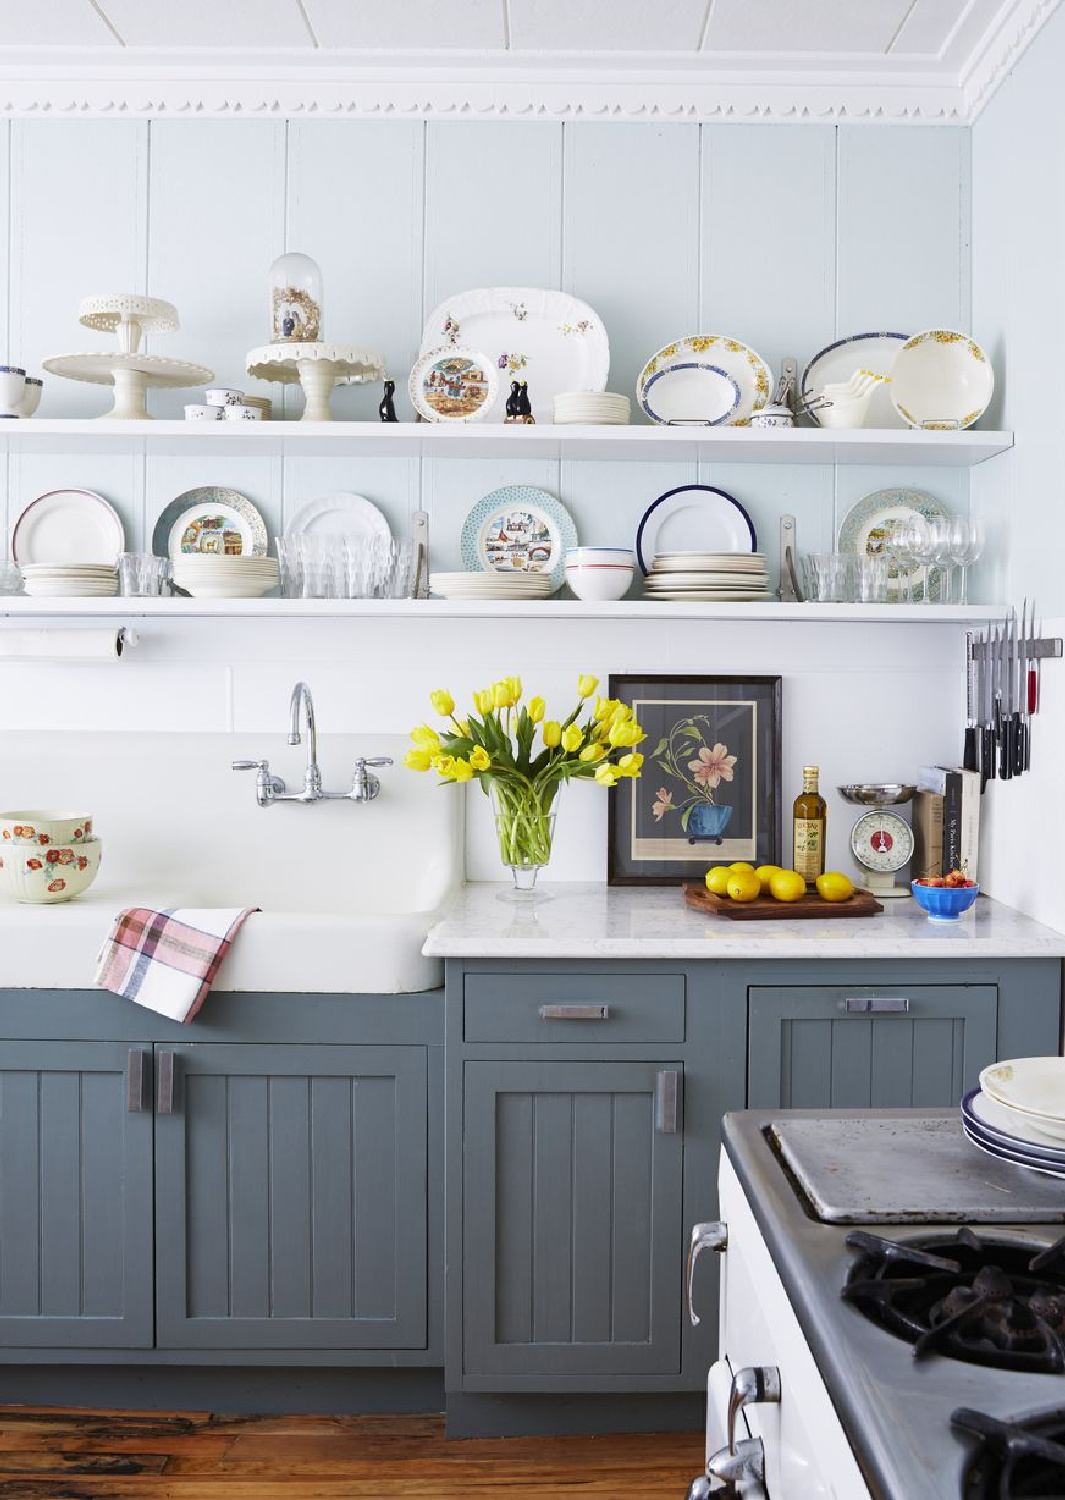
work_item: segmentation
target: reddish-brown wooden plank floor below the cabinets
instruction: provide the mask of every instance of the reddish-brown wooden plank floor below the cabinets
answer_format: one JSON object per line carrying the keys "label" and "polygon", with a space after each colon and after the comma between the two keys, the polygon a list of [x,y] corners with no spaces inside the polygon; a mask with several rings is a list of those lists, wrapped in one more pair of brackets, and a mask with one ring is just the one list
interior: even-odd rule
{"label": "reddish-brown wooden plank floor below the cabinets", "polygon": [[440,1416],[0,1407],[0,1500],[684,1500],[702,1434],[444,1437]]}

